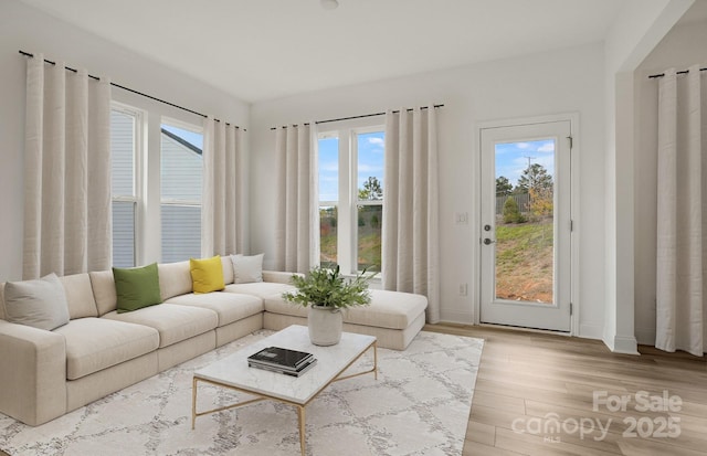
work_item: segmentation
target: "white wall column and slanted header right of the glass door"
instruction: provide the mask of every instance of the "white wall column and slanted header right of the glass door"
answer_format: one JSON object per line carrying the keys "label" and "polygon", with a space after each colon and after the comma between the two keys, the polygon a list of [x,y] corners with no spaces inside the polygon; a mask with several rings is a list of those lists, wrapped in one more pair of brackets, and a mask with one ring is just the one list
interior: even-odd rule
{"label": "white wall column and slanted header right of the glass door", "polygon": [[605,311],[602,339],[637,353],[634,327],[633,72],[694,0],[629,0],[605,40]]}

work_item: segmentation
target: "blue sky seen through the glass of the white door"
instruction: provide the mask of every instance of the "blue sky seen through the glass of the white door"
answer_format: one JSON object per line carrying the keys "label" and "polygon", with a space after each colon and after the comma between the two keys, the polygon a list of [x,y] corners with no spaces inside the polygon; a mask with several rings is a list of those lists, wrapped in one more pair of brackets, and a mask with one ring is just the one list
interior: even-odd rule
{"label": "blue sky seen through the glass of the white door", "polygon": [[555,139],[496,145],[496,178],[505,177],[515,187],[518,178],[530,165],[541,165],[555,180]]}

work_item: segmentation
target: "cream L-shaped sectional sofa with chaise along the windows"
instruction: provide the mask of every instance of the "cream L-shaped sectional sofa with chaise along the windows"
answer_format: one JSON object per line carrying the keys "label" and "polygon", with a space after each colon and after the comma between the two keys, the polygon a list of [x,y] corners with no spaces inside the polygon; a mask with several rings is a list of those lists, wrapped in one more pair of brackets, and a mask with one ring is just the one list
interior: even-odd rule
{"label": "cream L-shaped sectional sofa with chaise along the windows", "polygon": [[[306,309],[282,299],[292,274],[194,294],[189,262],[158,265],[162,304],[116,311],[112,271],[61,277],[70,321],[54,330],[7,321],[0,284],[0,413],[39,425],[255,330],[306,325]],[[403,350],[424,325],[424,296],[371,290],[368,307],[345,312],[345,330]]]}

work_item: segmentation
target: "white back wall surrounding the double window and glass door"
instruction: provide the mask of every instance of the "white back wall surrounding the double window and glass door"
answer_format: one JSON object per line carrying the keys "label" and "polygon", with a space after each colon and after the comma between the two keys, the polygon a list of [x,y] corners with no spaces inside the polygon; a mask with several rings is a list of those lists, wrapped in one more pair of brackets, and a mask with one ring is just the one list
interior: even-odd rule
{"label": "white back wall surrounding the double window and glass door", "polygon": [[[603,47],[601,43],[256,103],[251,109],[251,245],[274,251],[274,139],[270,127],[443,103],[440,110],[442,318],[472,322],[478,290],[479,206],[476,201],[479,121],[579,113],[581,221],[579,333],[599,337],[603,322]],[[454,214],[469,214],[468,225]],[[468,296],[458,285],[468,283]]]}

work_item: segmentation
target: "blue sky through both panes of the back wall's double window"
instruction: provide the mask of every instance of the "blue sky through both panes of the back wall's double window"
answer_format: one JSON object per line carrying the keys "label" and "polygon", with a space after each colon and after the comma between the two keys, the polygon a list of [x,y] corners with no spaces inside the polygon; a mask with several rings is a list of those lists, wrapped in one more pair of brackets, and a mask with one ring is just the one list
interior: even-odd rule
{"label": "blue sky through both panes of the back wall's double window", "polygon": [[[369,177],[374,177],[383,184],[383,149],[386,135],[383,131],[357,134],[358,173],[357,188],[363,188]],[[338,138],[319,139],[319,201],[339,200],[339,160]]]}

